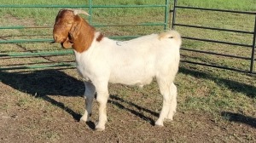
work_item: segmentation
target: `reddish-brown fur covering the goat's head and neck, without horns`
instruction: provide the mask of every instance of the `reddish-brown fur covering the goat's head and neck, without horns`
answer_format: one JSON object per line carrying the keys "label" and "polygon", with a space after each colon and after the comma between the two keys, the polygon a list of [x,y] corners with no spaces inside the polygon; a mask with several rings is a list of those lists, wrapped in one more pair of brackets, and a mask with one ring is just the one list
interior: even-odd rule
{"label": "reddish-brown fur covering the goat's head and neck, without horns", "polygon": [[[56,16],[53,35],[55,42],[61,43],[64,48],[72,46],[74,50],[82,53],[90,48],[95,31],[95,28],[79,15],[74,15],[72,11],[64,9]],[[96,40],[100,42],[102,37],[103,35],[100,34]]]}

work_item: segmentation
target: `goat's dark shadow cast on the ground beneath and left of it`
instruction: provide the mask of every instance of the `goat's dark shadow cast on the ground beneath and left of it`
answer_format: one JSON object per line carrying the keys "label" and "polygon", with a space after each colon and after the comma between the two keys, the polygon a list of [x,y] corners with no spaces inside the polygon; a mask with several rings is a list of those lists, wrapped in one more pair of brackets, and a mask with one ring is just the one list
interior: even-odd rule
{"label": "goat's dark shadow cast on the ground beneath and left of it", "polygon": [[[65,72],[58,70],[43,70],[35,72],[0,71],[0,81],[23,93],[31,94],[32,96],[35,95],[37,98],[42,98],[49,103],[60,107],[62,110],[71,114],[76,121],[79,121],[81,117],[79,113],[74,112],[71,108],[49,96],[83,96],[84,83],[74,77],[67,75]],[[145,117],[143,114],[123,106],[122,102],[125,102],[130,106],[135,106],[139,110],[149,112],[154,116],[158,116],[157,113],[151,112],[141,106],[137,106],[131,101],[125,101],[119,98],[117,95],[110,95],[108,102],[114,106],[118,106],[119,108],[124,109],[125,111],[131,112],[137,117],[150,121],[151,124],[154,123],[152,118]],[[90,129],[95,128],[95,124],[92,122],[88,122],[87,125],[90,127]]]}

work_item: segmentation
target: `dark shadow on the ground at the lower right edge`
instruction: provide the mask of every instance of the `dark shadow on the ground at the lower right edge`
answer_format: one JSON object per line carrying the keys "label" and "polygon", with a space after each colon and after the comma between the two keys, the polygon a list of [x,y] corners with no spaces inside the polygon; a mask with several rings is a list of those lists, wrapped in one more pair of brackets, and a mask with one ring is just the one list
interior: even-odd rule
{"label": "dark shadow on the ground at the lower right edge", "polygon": [[226,120],[230,122],[244,123],[250,125],[253,128],[256,128],[256,118],[247,117],[234,112],[222,112],[221,116],[223,116]]}

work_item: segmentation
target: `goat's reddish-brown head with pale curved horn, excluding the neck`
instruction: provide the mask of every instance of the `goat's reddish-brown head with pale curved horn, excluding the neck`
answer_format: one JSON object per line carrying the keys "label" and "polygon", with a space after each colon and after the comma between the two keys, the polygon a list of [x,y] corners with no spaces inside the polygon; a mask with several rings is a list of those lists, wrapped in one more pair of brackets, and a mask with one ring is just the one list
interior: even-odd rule
{"label": "goat's reddish-brown head with pale curved horn, excluding the neck", "polygon": [[61,43],[63,48],[71,48],[73,39],[80,31],[81,18],[78,14],[87,13],[80,9],[61,9],[55,18],[53,37],[55,43]]}

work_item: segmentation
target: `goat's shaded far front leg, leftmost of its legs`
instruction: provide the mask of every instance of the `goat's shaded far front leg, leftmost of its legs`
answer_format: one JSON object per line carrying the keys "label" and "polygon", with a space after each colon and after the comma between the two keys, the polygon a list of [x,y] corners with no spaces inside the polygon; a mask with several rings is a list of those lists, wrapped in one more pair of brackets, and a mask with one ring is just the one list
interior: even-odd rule
{"label": "goat's shaded far front leg, leftmost of its legs", "polygon": [[80,118],[80,121],[89,121],[89,117],[91,114],[92,101],[96,94],[96,89],[92,83],[84,82],[85,91],[84,91],[84,99],[85,99],[85,111],[84,115]]}

